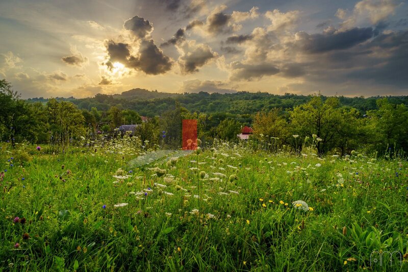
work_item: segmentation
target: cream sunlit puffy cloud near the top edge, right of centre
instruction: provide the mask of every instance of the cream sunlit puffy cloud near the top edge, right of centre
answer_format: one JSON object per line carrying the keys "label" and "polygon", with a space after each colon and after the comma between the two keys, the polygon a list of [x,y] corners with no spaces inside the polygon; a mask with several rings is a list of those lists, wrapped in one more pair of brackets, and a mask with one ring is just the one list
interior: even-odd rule
{"label": "cream sunlit puffy cloud near the top edge, right of centre", "polygon": [[299,11],[293,10],[281,13],[278,9],[267,11],[265,17],[271,20],[269,31],[284,31],[293,29],[299,20]]}

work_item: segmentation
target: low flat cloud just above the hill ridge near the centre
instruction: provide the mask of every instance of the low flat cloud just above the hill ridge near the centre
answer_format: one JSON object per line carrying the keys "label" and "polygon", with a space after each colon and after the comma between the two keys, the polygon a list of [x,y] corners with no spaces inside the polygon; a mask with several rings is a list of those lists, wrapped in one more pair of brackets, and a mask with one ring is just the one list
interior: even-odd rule
{"label": "low flat cloud just above the hill ridge near the centre", "polygon": [[200,81],[200,80],[188,80],[183,82],[181,88],[182,92],[208,92],[208,93],[234,93],[236,90],[225,88],[226,84],[221,81]]}

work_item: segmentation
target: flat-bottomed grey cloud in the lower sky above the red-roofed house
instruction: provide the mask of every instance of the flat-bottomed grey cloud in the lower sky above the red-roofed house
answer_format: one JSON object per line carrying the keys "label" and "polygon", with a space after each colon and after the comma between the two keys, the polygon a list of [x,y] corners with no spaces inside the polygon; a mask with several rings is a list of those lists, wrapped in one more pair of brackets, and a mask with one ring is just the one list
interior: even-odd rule
{"label": "flat-bottomed grey cloud in the lower sky above the red-roofed house", "polygon": [[242,64],[236,62],[232,64],[233,73],[231,80],[233,81],[251,81],[253,79],[260,79],[264,76],[276,75],[279,69],[269,63],[264,64]]}

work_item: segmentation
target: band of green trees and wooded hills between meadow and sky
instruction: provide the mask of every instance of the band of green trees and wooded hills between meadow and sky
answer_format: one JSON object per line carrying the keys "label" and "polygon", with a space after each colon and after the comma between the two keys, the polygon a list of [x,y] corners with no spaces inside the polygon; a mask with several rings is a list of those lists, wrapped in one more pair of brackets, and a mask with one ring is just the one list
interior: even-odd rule
{"label": "band of green trees and wooded hills between meadow and sky", "polygon": [[[137,93],[150,95],[140,90]],[[253,142],[269,150],[290,147],[299,153],[303,144],[316,139],[319,155],[390,149],[403,154],[408,150],[406,96],[349,98],[242,92],[173,95],[144,101],[120,96],[97,94],[83,100],[70,97],[25,101],[9,82],[1,80],[0,138],[13,144],[23,140],[64,143],[81,136],[105,134],[120,125],[137,124],[135,133],[143,143],[164,142],[176,147],[181,141],[181,120],[197,119],[198,137],[203,142],[214,138],[238,141],[237,134],[247,125],[254,130]],[[201,108],[206,103],[212,104],[206,106],[208,111]],[[135,110],[135,105],[150,105],[157,112],[145,114],[143,109]],[[231,110],[234,107],[237,109]],[[141,115],[148,115],[149,121],[142,122]]]}

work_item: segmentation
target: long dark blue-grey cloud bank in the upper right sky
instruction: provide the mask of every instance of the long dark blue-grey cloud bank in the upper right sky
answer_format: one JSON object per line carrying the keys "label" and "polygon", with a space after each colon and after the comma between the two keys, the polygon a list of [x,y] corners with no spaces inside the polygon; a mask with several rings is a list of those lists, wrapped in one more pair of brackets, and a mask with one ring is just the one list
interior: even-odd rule
{"label": "long dark blue-grey cloud bank in the upper right sky", "polygon": [[344,32],[308,34],[299,32],[297,43],[302,50],[309,53],[324,53],[333,50],[344,50],[367,41],[374,36],[373,28],[353,28]]}

